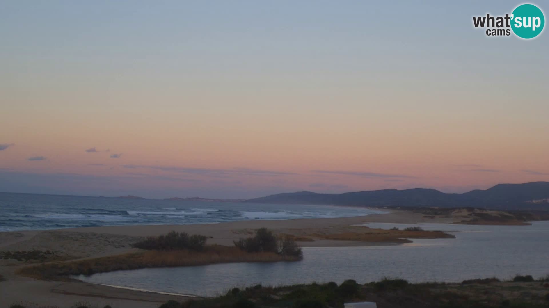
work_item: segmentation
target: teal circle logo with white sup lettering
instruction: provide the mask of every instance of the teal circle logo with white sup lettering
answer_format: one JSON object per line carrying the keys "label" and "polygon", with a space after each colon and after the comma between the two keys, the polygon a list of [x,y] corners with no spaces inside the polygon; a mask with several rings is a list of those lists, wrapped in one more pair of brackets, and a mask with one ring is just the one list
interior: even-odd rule
{"label": "teal circle logo with white sup lettering", "polygon": [[522,4],[513,10],[511,28],[521,38],[534,38],[544,30],[544,13],[534,4]]}

